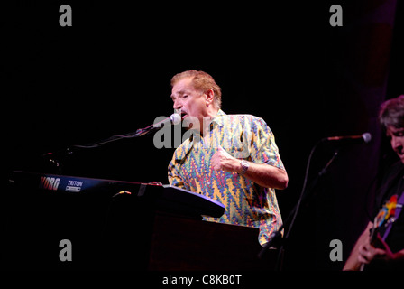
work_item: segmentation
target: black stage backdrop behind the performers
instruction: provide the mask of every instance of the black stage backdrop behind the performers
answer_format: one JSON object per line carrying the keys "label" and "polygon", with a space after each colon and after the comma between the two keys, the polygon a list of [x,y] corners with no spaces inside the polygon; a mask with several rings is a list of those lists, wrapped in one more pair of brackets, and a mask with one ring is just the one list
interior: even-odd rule
{"label": "black stage backdrop behind the performers", "polygon": [[[227,114],[262,117],[274,132],[289,172],[289,188],[278,191],[284,219],[298,201],[308,154],[318,140],[372,134],[371,144],[338,150],[303,204],[286,247],[285,270],[342,268],[344,262],[329,259],[330,241],[342,241],[346,260],[368,220],[369,187],[380,157],[389,151],[381,145],[378,106],[403,93],[402,3],[396,9],[393,0],[71,2],[72,26],[60,27],[62,4],[69,3],[20,2],[9,5],[2,19],[8,172],[167,183],[174,148],[155,148],[153,135],[56,154],[59,168],[43,154],[169,117],[170,78],[205,70],[221,86]],[[329,24],[334,4],[343,7],[343,27]],[[318,147],[309,183],[335,149]]]}

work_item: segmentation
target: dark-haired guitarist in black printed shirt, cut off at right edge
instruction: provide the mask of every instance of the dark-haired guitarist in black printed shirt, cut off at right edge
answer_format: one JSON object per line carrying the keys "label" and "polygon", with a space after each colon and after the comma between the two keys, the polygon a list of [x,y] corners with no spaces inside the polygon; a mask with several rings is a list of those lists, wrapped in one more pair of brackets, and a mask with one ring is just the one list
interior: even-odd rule
{"label": "dark-haired guitarist in black printed shirt, cut off at right edge", "polygon": [[344,271],[404,270],[404,95],[381,104],[379,120],[399,161],[381,179],[372,219]]}

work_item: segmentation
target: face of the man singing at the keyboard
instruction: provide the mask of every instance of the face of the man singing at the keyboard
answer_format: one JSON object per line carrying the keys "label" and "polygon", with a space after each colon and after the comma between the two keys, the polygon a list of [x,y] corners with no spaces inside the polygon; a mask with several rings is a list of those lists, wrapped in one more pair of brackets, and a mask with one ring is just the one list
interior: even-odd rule
{"label": "face of the man singing at the keyboard", "polygon": [[174,109],[181,109],[182,119],[197,117],[200,121],[207,115],[205,94],[194,88],[192,79],[181,79],[171,89]]}

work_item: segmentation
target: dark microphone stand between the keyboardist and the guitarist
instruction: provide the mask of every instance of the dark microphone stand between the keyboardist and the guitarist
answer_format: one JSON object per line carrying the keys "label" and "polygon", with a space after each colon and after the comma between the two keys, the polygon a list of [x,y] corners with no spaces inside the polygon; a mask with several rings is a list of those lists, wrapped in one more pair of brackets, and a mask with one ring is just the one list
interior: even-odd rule
{"label": "dark microphone stand between the keyboardist and the guitarist", "polygon": [[[320,170],[320,172],[317,173],[316,178],[313,180],[313,182],[311,182],[311,185],[310,185],[310,187],[309,187],[308,190],[307,190],[307,189],[306,189],[306,184],[307,184],[307,180],[308,180],[308,169],[309,169],[309,166],[310,166],[310,163],[311,163],[312,155],[314,154],[314,151],[316,150],[317,145],[318,145],[318,144],[321,144],[321,143],[324,142],[324,141],[326,141],[326,139],[321,139],[319,142],[317,142],[317,144],[313,147],[313,149],[312,149],[311,152],[310,152],[310,155],[309,155],[309,157],[308,157],[308,166],[307,166],[307,170],[306,170],[305,181],[304,181],[304,184],[303,184],[303,189],[302,189],[302,191],[301,191],[301,193],[300,193],[300,197],[299,197],[299,199],[298,199],[298,203],[297,203],[296,206],[293,208],[293,210],[290,211],[288,218],[285,220],[285,222],[282,223],[282,225],[280,226],[280,228],[278,228],[276,231],[274,231],[274,232],[271,234],[271,236],[270,236],[270,238],[269,238],[269,240],[268,240],[268,243],[266,243],[265,246],[262,247],[262,250],[261,250],[260,253],[258,254],[258,257],[259,257],[260,259],[262,259],[262,258],[265,256],[265,253],[266,253],[271,247],[278,247],[278,246],[280,246],[280,249],[279,249],[279,252],[278,252],[278,256],[277,256],[276,265],[275,265],[275,271],[280,271],[280,270],[281,270],[280,261],[281,261],[282,256],[283,256],[282,253],[283,253],[283,250],[284,250],[284,247],[285,247],[285,243],[286,243],[286,241],[287,241],[288,238],[289,238],[289,234],[290,234],[291,228],[293,228],[293,224],[294,224],[295,219],[296,219],[296,217],[297,217],[297,215],[298,215],[298,210],[299,210],[299,208],[300,208],[301,203],[302,203],[304,200],[307,200],[307,199],[308,199],[308,196],[310,195],[310,192],[313,191],[313,190],[316,188],[317,182],[319,181],[319,179],[320,179],[323,175],[326,174],[326,171],[327,171],[328,167],[331,165],[331,163],[333,163],[333,162],[335,161],[335,157],[338,155],[339,150],[336,149],[335,152],[334,152],[334,154],[333,154],[333,156],[331,157],[331,159],[326,163],[325,167],[324,167],[322,170]],[[288,232],[286,233],[285,238],[283,238],[281,232],[282,232],[283,228],[285,227],[284,224],[288,223],[288,222],[289,222],[289,219],[291,219],[290,226],[289,226]]]}

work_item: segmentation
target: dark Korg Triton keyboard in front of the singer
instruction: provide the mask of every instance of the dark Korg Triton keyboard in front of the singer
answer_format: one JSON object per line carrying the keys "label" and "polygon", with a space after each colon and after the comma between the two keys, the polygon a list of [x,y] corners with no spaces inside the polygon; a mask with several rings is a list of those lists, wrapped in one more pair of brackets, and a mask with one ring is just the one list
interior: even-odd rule
{"label": "dark Korg Triton keyboard in front of the singer", "polygon": [[124,182],[23,171],[13,172],[9,181],[14,187],[32,190],[32,193],[39,190],[45,193],[91,194],[95,197],[96,194],[102,194],[111,198],[119,194],[130,194],[152,200],[157,207],[171,212],[179,210],[181,213],[214,218],[221,217],[225,212],[225,206],[219,201],[156,182]]}

